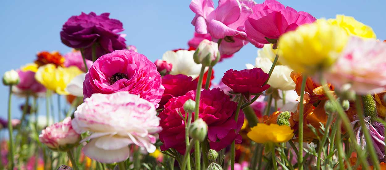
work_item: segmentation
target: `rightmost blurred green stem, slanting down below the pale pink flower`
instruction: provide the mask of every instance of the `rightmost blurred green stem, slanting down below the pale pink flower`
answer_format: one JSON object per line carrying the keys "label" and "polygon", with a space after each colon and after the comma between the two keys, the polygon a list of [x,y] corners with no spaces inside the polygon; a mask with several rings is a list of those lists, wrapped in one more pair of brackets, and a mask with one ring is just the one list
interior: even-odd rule
{"label": "rightmost blurred green stem, slanting down below the pale pink flower", "polygon": [[[381,169],[381,167],[379,167],[378,156],[377,156],[377,153],[375,152],[374,143],[372,142],[369,129],[366,127],[366,124],[364,122],[363,110],[362,110],[362,106],[361,106],[360,102],[361,102],[361,97],[357,96],[357,99],[355,100],[355,107],[357,109],[359,123],[361,124],[361,127],[362,127],[362,132],[363,132],[364,138],[366,140],[366,146],[369,149],[370,158],[371,158],[372,164],[374,166],[374,169],[379,170],[379,169]],[[375,107],[375,105],[374,105],[374,107]]]}

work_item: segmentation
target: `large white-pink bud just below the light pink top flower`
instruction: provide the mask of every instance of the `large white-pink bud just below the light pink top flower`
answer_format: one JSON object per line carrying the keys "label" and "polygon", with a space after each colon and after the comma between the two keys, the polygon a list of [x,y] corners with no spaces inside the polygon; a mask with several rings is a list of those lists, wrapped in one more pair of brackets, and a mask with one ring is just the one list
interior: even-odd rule
{"label": "large white-pink bud just below the light pink top flower", "polygon": [[220,53],[217,48],[218,44],[213,41],[204,39],[198,44],[196,52],[193,54],[195,63],[204,66],[215,65],[220,60]]}

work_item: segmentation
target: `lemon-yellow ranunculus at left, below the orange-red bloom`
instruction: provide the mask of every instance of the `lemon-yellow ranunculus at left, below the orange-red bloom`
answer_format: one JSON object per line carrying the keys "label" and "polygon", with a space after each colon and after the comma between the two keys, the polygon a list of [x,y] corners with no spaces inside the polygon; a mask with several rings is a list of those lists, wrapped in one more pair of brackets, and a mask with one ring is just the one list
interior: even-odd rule
{"label": "lemon-yellow ranunculus at left, below the orange-red bloom", "polygon": [[83,73],[78,67],[70,66],[68,68],[58,67],[53,64],[47,64],[39,67],[35,74],[35,79],[44,85],[47,89],[53,90],[58,94],[67,95],[64,89],[71,80]]}

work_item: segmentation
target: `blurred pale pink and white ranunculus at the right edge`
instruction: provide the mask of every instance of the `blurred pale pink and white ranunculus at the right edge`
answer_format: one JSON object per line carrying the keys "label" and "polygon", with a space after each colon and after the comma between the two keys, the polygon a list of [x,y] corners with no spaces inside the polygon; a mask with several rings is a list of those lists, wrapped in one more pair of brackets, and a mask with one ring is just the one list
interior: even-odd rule
{"label": "blurred pale pink and white ranunculus at the right edge", "polygon": [[386,90],[385,56],[386,43],[351,37],[331,70],[324,72],[325,77],[339,88],[350,83],[358,94],[383,92]]}

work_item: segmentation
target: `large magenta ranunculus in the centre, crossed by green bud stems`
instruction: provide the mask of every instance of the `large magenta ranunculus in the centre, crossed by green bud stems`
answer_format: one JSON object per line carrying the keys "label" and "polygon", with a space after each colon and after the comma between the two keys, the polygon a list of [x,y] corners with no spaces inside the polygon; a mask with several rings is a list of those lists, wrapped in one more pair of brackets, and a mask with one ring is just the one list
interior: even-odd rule
{"label": "large magenta ranunculus in the centre, crossed by green bud stems", "polygon": [[[188,99],[195,99],[195,90],[170,99],[165,104],[165,109],[158,115],[163,129],[159,133],[159,139],[164,143],[161,150],[174,148],[181,154],[185,153],[185,124],[178,115],[178,110],[185,116],[183,105]],[[236,123],[234,120],[236,107],[237,103],[231,101],[219,88],[202,91],[199,117],[208,124],[208,142],[211,149],[219,151],[230,145],[233,140],[236,140],[236,143],[241,142],[238,133],[244,123],[244,114],[239,114],[239,121]]]}

